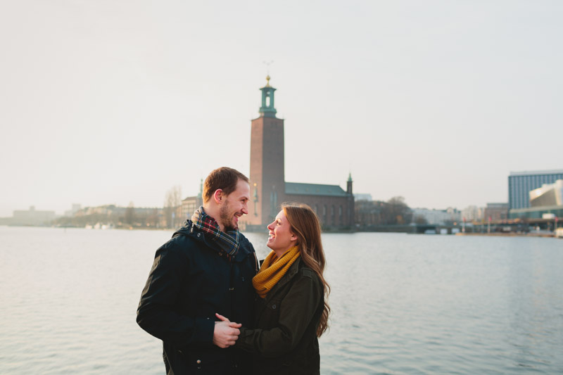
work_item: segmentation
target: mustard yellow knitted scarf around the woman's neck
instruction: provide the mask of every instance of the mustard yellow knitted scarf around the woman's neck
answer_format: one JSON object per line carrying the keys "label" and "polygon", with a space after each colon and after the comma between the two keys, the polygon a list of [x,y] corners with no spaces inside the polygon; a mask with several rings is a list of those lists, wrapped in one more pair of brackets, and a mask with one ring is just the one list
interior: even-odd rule
{"label": "mustard yellow knitted scarf around the woman's neck", "polygon": [[274,251],[268,254],[262,263],[262,267],[260,267],[260,271],[258,271],[258,274],[252,279],[252,285],[256,293],[258,293],[261,298],[265,298],[279,279],[286,274],[289,267],[293,265],[293,262],[299,258],[299,255],[301,255],[301,253],[297,246],[287,250],[280,258],[276,257]]}

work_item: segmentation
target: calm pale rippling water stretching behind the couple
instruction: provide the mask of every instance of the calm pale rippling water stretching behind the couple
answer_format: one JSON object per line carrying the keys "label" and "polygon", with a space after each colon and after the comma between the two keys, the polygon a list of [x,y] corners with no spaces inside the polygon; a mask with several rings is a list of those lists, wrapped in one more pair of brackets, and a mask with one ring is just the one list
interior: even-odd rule
{"label": "calm pale rippling water stretching behind the couple", "polygon": [[[163,374],[135,322],[170,231],[0,227],[0,374]],[[260,258],[265,234],[248,234]],[[563,373],[563,241],[324,234],[322,374]]]}

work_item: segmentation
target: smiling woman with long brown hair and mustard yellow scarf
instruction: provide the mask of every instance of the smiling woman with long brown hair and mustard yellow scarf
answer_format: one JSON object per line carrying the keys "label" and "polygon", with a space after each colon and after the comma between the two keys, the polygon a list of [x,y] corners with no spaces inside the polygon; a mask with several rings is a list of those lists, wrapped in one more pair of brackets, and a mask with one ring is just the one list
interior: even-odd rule
{"label": "smiling woman with long brown hair and mustard yellow scarf", "polygon": [[319,219],[308,205],[284,203],[267,228],[272,252],[253,278],[255,328],[241,327],[235,346],[255,354],[255,374],[319,374],[317,338],[330,311]]}

